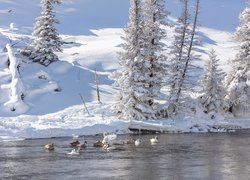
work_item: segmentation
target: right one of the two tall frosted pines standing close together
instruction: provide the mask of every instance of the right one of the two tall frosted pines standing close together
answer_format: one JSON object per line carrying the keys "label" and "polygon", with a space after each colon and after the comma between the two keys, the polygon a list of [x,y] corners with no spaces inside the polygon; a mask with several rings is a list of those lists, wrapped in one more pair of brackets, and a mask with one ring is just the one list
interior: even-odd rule
{"label": "right one of the two tall frosted pines standing close together", "polygon": [[166,30],[162,27],[167,25],[168,12],[165,6],[165,0],[145,0],[143,7],[142,57],[144,63],[141,67],[141,76],[144,76],[145,80],[140,88],[144,92],[141,95],[144,105],[151,107],[154,111],[153,118],[164,116],[160,113],[162,109],[157,100],[162,99],[160,90],[167,73],[167,57],[164,55],[166,46],[162,42],[167,36]]}

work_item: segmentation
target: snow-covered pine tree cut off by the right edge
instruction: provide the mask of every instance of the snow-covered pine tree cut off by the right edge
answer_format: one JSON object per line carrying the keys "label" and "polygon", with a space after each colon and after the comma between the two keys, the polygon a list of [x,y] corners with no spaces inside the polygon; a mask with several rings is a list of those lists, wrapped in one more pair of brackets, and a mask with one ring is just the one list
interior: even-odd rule
{"label": "snow-covered pine tree cut off by the right edge", "polygon": [[[240,14],[241,25],[236,30],[240,49],[232,61],[232,72],[226,77],[228,110],[250,106],[250,8]],[[248,109],[249,110],[249,109]]]}

